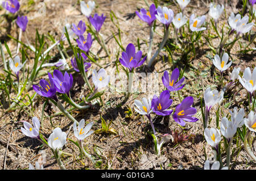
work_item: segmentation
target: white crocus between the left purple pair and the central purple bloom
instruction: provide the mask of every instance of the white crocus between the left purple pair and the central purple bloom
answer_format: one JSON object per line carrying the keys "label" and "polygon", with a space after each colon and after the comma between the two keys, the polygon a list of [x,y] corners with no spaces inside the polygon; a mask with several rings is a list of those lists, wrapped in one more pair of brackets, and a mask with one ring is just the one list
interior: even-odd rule
{"label": "white crocus between the left purple pair and the central purple bloom", "polygon": [[106,70],[101,68],[98,73],[94,69],[92,73],[92,81],[96,90],[100,91],[102,88],[109,85],[110,76],[106,73]]}

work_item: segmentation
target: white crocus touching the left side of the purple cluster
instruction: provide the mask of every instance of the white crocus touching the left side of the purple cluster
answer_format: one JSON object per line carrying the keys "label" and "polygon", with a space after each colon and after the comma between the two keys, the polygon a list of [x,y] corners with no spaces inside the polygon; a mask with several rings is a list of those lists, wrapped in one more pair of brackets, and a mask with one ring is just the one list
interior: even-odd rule
{"label": "white crocus touching the left side of the purple cluster", "polygon": [[134,100],[134,105],[138,108],[134,108],[134,110],[140,113],[141,115],[149,116],[150,113],[152,112],[150,98],[148,98],[148,100],[146,98],[142,98],[142,102],[140,100]]}

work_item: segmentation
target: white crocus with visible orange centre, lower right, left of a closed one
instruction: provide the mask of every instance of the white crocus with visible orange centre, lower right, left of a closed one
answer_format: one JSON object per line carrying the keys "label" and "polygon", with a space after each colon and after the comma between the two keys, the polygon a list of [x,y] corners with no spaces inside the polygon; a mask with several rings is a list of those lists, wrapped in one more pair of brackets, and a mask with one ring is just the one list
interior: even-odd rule
{"label": "white crocus with visible orange centre, lower right, left of a closed one", "polygon": [[221,141],[220,130],[216,128],[205,128],[204,137],[207,143],[214,149],[218,150],[218,143]]}

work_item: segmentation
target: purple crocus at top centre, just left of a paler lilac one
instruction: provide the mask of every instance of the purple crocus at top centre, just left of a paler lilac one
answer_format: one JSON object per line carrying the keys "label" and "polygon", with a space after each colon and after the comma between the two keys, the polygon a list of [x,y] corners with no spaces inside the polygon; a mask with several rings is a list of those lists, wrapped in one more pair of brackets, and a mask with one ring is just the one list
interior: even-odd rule
{"label": "purple crocus at top centre, just left of a paler lilac one", "polygon": [[156,19],[156,17],[155,17],[156,13],[157,13],[157,11],[155,9],[155,4],[152,4],[150,6],[149,11],[147,11],[143,8],[141,9],[141,13],[136,11],[136,14],[139,16],[139,18],[141,18],[141,20],[143,20],[143,22],[146,22],[148,24],[148,26],[151,26],[152,23],[154,22],[154,20]]}

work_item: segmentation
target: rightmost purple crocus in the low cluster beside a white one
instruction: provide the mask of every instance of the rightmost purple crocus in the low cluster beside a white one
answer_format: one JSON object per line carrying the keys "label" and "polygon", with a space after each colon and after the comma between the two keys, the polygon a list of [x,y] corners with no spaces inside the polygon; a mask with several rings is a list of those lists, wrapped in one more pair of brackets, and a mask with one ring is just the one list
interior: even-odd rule
{"label": "rightmost purple crocus in the low cluster beside a white one", "polygon": [[188,96],[175,108],[175,112],[172,117],[174,117],[174,120],[182,127],[185,125],[184,121],[196,122],[199,120],[196,117],[192,117],[192,115],[195,115],[197,112],[196,108],[191,107],[192,104],[193,97]]}

